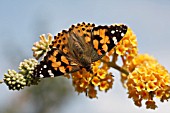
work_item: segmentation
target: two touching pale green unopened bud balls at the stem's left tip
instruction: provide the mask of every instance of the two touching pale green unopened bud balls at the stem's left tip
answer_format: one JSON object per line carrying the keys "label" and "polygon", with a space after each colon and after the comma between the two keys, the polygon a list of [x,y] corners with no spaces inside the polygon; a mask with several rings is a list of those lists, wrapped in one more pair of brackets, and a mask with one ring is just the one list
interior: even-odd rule
{"label": "two touching pale green unopened bud balls at the stem's left tip", "polygon": [[31,77],[32,70],[37,64],[35,59],[24,60],[19,65],[18,73],[15,70],[8,70],[8,73],[4,74],[4,82],[10,90],[20,90],[24,86],[38,84],[40,79]]}

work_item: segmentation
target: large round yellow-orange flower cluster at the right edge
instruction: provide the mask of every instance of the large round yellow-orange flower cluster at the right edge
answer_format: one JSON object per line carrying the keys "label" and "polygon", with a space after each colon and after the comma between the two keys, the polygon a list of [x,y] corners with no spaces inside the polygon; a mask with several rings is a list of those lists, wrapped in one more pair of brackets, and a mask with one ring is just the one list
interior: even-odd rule
{"label": "large round yellow-orange flower cluster at the right edge", "polygon": [[129,71],[126,86],[135,105],[141,106],[142,100],[146,100],[146,107],[155,109],[153,97],[162,102],[170,98],[170,74],[153,57],[138,55],[130,63]]}

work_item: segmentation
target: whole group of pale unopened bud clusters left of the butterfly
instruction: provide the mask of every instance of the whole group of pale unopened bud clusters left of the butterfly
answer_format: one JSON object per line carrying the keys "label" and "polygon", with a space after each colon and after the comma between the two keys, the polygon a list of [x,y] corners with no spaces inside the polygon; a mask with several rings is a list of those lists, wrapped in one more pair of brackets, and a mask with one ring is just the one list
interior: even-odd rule
{"label": "whole group of pale unopened bud clusters left of the butterfly", "polygon": [[[49,45],[52,43],[53,36],[48,34],[47,37],[45,34],[40,35],[40,41],[34,43],[32,47],[33,56],[38,60],[41,56],[45,55],[49,50]],[[40,82],[40,78],[33,78],[32,73],[38,61],[31,58],[24,60],[20,63],[18,69],[19,72],[15,70],[8,70],[4,74],[4,82],[9,87],[10,90],[20,90],[24,86],[37,85]]]}

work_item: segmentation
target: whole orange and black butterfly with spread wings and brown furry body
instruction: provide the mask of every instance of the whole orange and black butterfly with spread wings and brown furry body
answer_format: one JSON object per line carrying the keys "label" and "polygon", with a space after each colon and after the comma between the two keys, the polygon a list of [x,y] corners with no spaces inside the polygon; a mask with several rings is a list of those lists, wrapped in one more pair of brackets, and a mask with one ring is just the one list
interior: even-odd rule
{"label": "whole orange and black butterfly with spread wings and brown furry body", "polygon": [[124,24],[99,25],[78,23],[54,36],[50,49],[33,71],[34,77],[56,77],[85,68],[100,60],[124,37]]}

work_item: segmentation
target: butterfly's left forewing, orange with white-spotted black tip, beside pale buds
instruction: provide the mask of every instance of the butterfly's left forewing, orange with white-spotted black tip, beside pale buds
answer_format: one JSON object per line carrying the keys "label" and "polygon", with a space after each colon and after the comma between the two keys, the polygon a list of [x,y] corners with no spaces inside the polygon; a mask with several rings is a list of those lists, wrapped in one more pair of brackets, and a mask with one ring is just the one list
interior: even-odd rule
{"label": "butterfly's left forewing, orange with white-spotted black tip, beside pale buds", "polygon": [[78,71],[80,67],[73,63],[58,49],[51,49],[47,52],[44,60],[34,70],[35,77],[55,77],[66,73]]}

